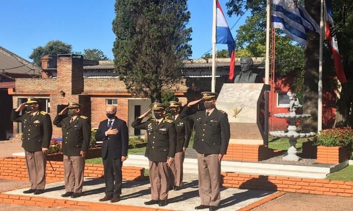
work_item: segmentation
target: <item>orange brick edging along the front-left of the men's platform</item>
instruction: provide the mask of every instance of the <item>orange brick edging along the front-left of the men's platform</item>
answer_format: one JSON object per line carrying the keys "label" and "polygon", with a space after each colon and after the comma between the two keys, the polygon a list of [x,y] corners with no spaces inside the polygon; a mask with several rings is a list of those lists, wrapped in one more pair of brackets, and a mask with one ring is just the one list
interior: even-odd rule
{"label": "orange brick edging along the front-left of the men's platform", "polygon": [[99,209],[99,210],[129,210],[129,211],[169,210],[169,209],[150,208],[150,207],[143,207],[143,206],[108,204],[108,203],[88,202],[88,201],[74,201],[74,200],[66,200],[66,199],[44,198],[44,197],[30,197],[30,196],[12,195],[12,194],[4,194],[4,193],[0,193],[0,203],[43,206],[43,207],[70,207],[70,208],[77,208],[77,209]]}

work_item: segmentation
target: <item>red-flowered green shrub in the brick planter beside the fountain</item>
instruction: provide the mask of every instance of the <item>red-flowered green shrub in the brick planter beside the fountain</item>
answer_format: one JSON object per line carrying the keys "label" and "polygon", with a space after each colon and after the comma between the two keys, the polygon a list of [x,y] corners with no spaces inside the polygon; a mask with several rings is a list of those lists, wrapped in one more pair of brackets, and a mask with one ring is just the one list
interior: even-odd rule
{"label": "red-flowered green shrub in the brick planter beside the fountain", "polygon": [[353,142],[353,131],[350,127],[326,129],[315,137],[316,146],[348,146]]}

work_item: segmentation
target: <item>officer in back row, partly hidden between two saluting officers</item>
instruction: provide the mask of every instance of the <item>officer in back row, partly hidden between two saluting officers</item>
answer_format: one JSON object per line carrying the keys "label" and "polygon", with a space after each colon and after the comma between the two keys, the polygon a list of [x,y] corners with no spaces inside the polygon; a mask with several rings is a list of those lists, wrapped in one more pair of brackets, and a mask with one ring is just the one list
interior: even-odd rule
{"label": "officer in back row, partly hidden between two saluting officers", "polygon": [[182,120],[179,117],[182,104],[177,101],[169,102],[169,111],[177,132],[177,146],[175,148],[174,162],[170,165],[170,186],[173,185],[174,190],[180,190],[183,184],[183,162],[185,150],[188,148],[191,129],[189,121]]}

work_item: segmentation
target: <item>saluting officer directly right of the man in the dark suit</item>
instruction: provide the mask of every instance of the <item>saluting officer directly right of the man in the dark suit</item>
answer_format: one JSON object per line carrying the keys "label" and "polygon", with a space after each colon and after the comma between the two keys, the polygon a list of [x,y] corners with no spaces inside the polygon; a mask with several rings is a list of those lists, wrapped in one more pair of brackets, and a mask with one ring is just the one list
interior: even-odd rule
{"label": "saluting officer directly right of the man in the dark suit", "polygon": [[149,160],[150,183],[152,200],[144,202],[146,205],[167,205],[169,191],[169,167],[175,154],[175,126],[172,120],[164,118],[165,107],[159,102],[152,103],[155,120],[142,119],[147,117],[151,110],[136,118],[131,124],[133,128],[147,130],[148,142],[145,156]]}

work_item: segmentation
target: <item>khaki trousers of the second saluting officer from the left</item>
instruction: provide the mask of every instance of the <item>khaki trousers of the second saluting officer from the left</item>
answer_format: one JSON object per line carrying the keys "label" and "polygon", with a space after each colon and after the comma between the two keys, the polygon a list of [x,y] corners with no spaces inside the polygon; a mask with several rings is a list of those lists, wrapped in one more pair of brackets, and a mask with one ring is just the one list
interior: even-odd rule
{"label": "khaki trousers of the second saluting officer from the left", "polygon": [[64,155],[63,161],[66,192],[81,193],[85,160],[81,156]]}

